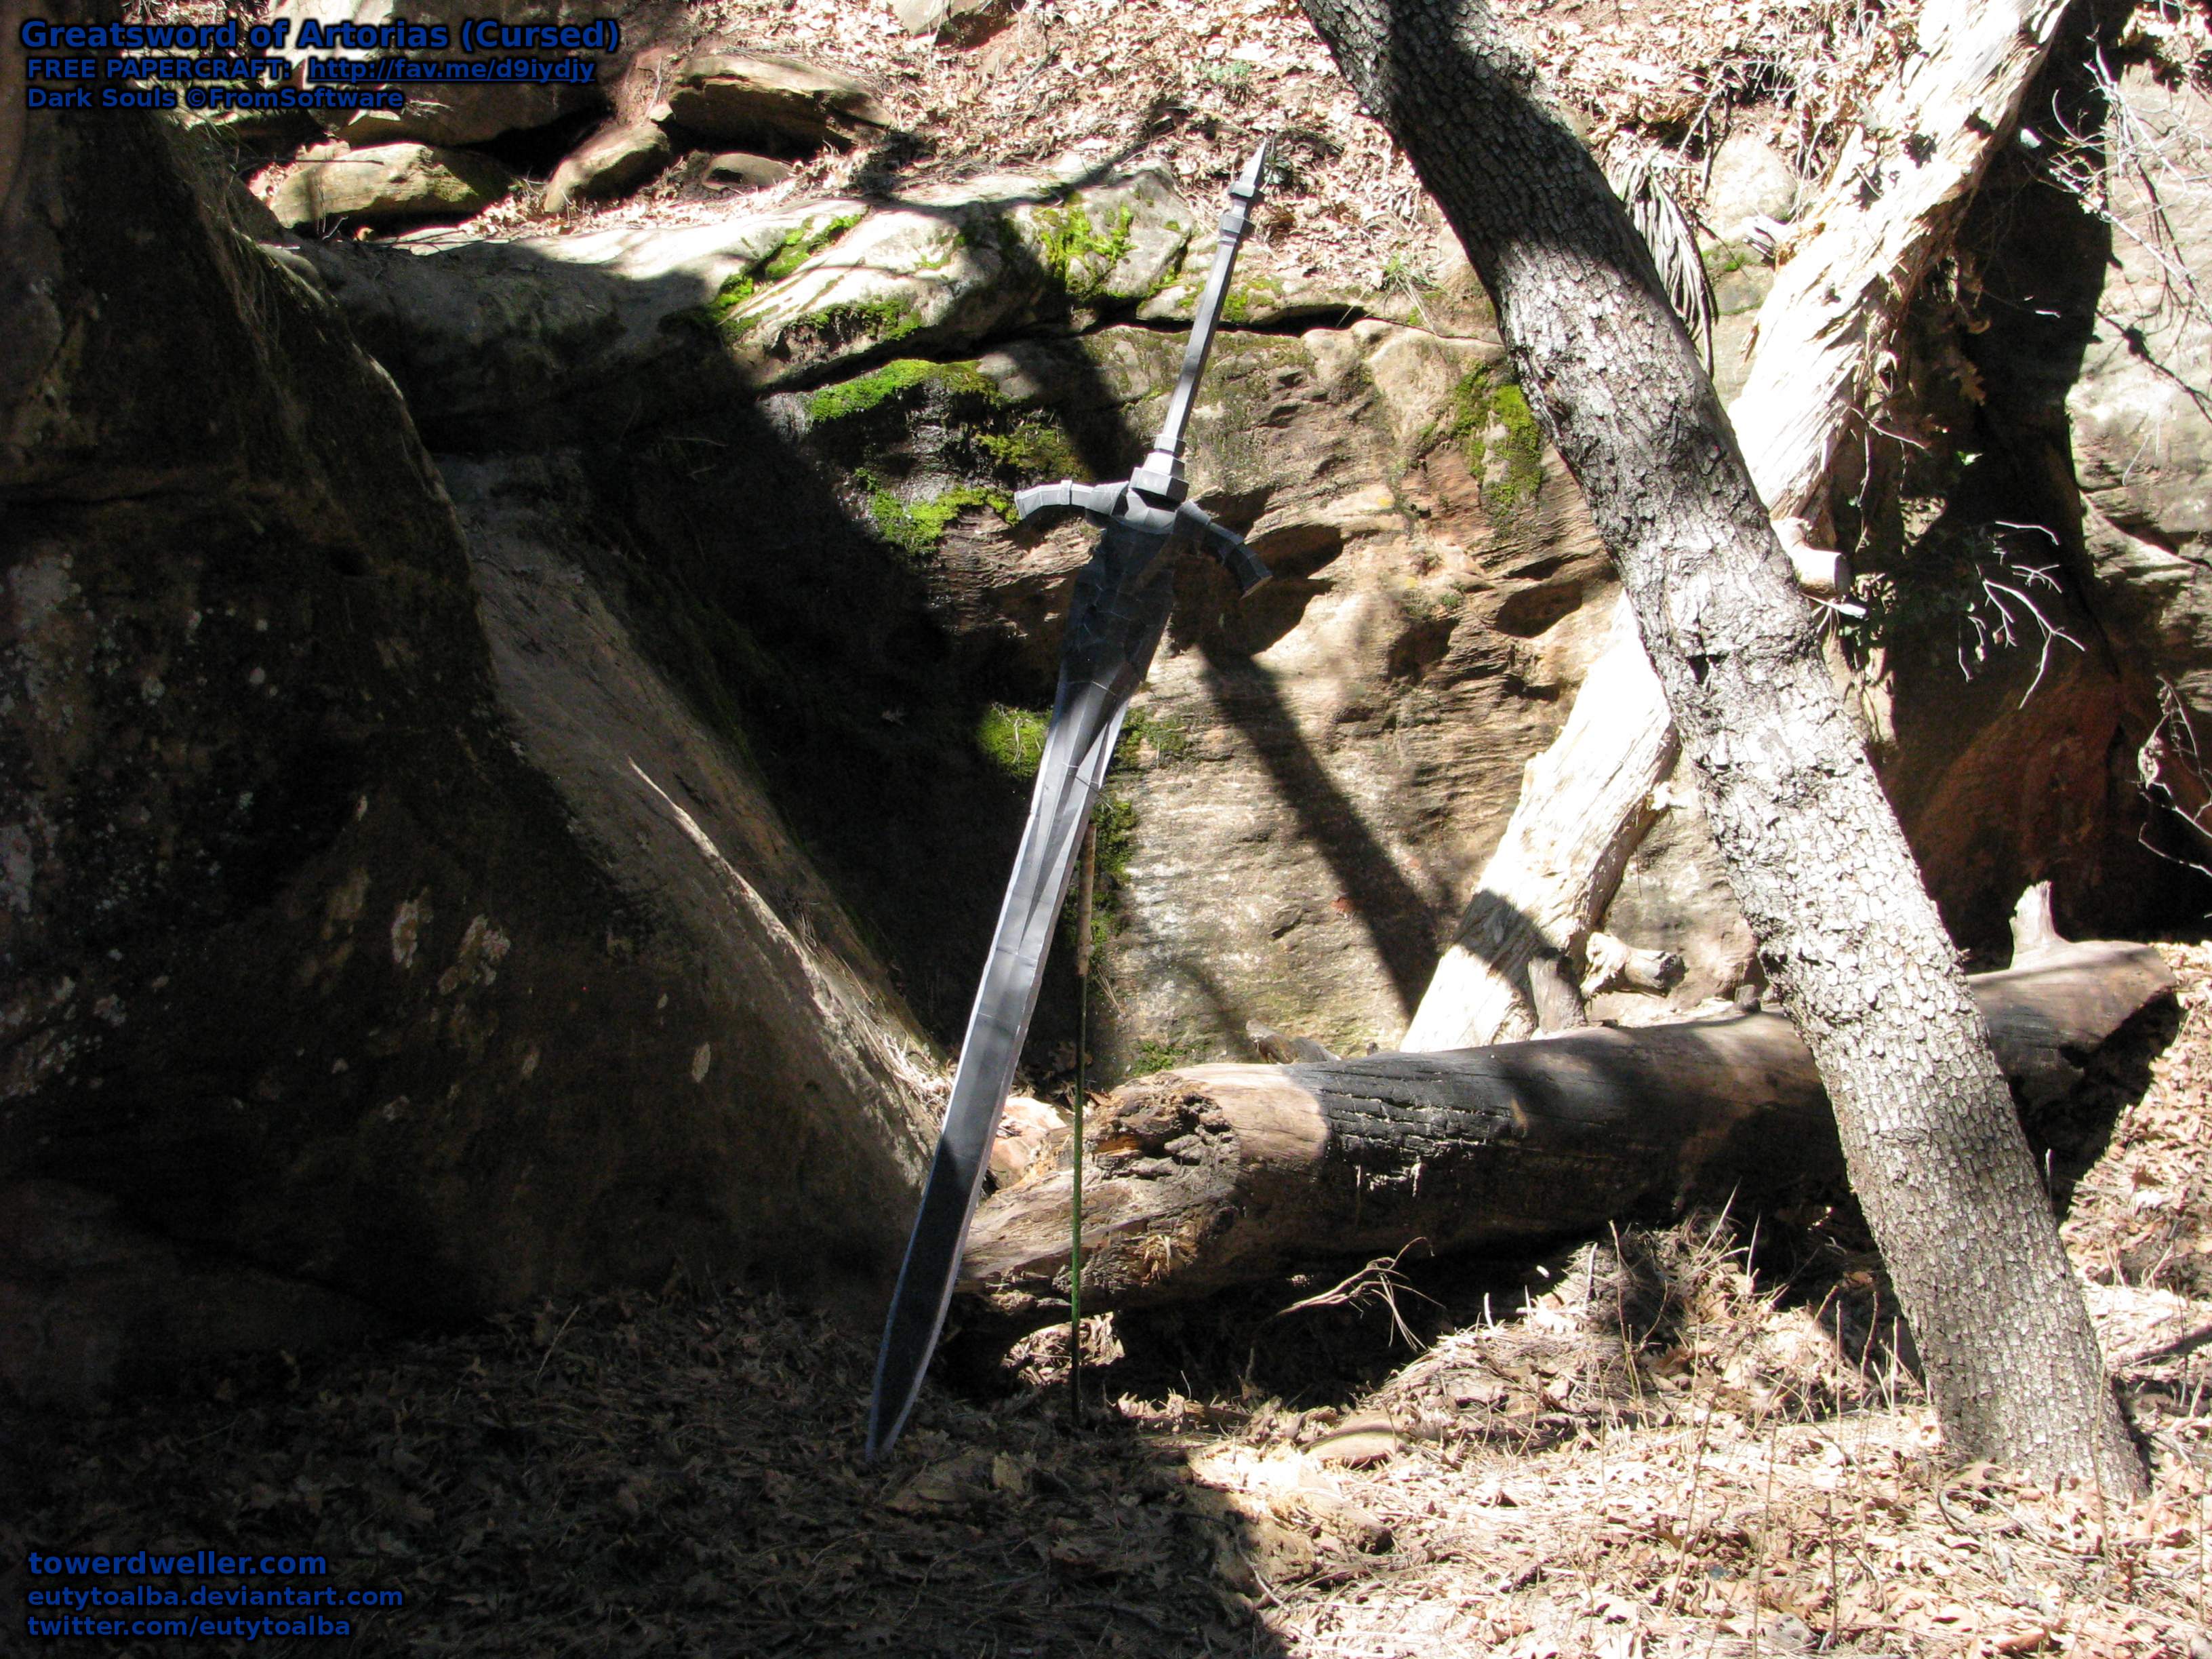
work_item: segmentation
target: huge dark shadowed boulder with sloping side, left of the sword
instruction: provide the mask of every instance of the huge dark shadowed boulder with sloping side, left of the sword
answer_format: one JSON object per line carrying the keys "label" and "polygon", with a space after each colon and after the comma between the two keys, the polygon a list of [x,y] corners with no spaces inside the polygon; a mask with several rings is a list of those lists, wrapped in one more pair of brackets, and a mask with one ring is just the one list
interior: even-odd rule
{"label": "huge dark shadowed boulder with sloping side, left of the sword", "polygon": [[[544,465],[458,471],[469,540],[392,380],[164,124],[31,124],[4,186],[18,1380],[113,1376],[164,1263],[175,1352],[345,1327],[332,1296],[880,1272],[933,1057],[641,650],[690,613],[586,586]],[[55,1232],[86,1214],[113,1245]]]}

